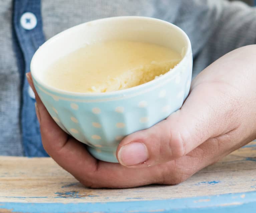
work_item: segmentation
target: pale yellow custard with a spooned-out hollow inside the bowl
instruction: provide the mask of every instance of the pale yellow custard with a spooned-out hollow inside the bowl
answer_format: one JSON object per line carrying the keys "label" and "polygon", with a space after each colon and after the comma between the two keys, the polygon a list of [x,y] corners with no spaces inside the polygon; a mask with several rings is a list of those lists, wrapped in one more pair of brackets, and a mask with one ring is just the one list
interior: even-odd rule
{"label": "pale yellow custard with a spooned-out hollow inside the bowl", "polygon": [[117,40],[86,45],[51,64],[49,86],[79,93],[103,93],[154,80],[181,61],[181,55],[160,45]]}

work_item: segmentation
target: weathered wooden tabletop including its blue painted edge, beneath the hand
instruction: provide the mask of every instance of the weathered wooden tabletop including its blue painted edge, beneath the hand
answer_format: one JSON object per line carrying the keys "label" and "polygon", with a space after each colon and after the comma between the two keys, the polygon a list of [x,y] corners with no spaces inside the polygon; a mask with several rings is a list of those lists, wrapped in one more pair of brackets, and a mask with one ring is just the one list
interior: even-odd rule
{"label": "weathered wooden tabletop including its blue painted edge, beneath the hand", "polygon": [[256,142],[176,186],[90,189],[51,158],[0,156],[0,213],[256,212]]}

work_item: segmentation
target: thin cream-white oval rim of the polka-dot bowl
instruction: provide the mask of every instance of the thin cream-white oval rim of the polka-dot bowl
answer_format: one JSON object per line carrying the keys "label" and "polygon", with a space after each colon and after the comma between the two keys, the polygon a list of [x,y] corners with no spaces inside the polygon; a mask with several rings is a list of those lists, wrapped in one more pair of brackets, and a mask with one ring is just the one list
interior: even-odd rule
{"label": "thin cream-white oval rim of the polka-dot bowl", "polygon": [[[122,90],[116,90],[116,91],[111,91],[111,92],[104,92],[104,93],[85,93],[85,92],[70,92],[70,91],[66,91],[66,90],[62,90],[62,89],[58,89],[58,88],[55,88],[55,87],[52,87],[52,86],[49,86],[47,85],[46,83],[44,83],[42,80],[40,80],[35,73],[35,60],[37,58],[37,55],[39,53],[39,51],[44,48],[45,46],[49,45],[50,43],[52,42],[55,42],[60,36],[66,34],[66,33],[69,33],[70,31],[72,31],[73,29],[75,28],[79,28],[81,27],[82,25],[89,25],[89,24],[93,24],[94,22],[100,22],[100,21],[108,21],[108,20],[112,20],[112,19],[141,19],[141,20],[151,20],[151,21],[157,21],[157,22],[162,22],[162,23],[165,23],[165,24],[168,24],[170,25],[171,27],[173,28],[176,28],[177,31],[179,31],[183,36],[184,38],[186,39],[187,41],[187,49],[185,51],[185,54],[182,58],[182,60],[174,67],[172,68],[170,71],[166,72],[164,75],[162,76],[159,76],[158,78],[156,79],[153,79],[149,82],[146,82],[144,84],[141,84],[141,85],[138,85],[138,86],[134,86],[134,87],[131,87],[131,88],[127,88],[127,89],[122,89]],[[109,96],[109,95],[124,95],[126,93],[130,93],[130,92],[133,92],[133,91],[136,91],[136,90],[139,90],[139,89],[143,89],[143,87],[148,87],[150,85],[153,86],[153,84],[162,84],[163,82],[165,82],[166,77],[168,75],[171,75],[173,72],[177,71],[178,70],[178,67],[179,65],[186,60],[186,56],[189,54],[189,52],[191,50],[191,42],[190,42],[190,39],[188,37],[188,35],[178,26],[168,22],[168,21],[164,21],[164,20],[161,20],[161,19],[157,19],[157,18],[152,18],[152,17],[144,17],[144,16],[116,16],[116,17],[109,17],[109,18],[102,18],[102,19],[96,19],[96,20],[93,20],[93,21],[89,21],[89,22],[84,22],[84,23],[81,23],[81,24],[78,24],[76,26],[73,26],[73,27],[70,27],[56,35],[54,35],[53,37],[51,37],[50,39],[48,39],[46,42],[44,42],[37,50],[36,52],[34,53],[32,59],[31,59],[31,63],[30,63],[30,70],[31,70],[31,75],[32,75],[32,79],[33,81],[35,80],[36,81],[36,84],[38,86],[42,85],[44,88],[54,92],[54,93],[58,93],[58,94],[64,94],[64,95],[69,95],[69,96],[77,96],[77,97],[99,97],[99,96]],[[180,71],[181,72],[181,71]],[[164,80],[164,81],[163,81]],[[156,86],[156,85],[155,85]]]}

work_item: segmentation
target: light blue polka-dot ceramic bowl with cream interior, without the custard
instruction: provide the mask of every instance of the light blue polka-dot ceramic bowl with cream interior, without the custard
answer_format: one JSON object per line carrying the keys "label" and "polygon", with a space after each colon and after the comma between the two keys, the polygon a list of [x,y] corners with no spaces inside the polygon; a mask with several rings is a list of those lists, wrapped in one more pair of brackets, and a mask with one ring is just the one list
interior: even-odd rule
{"label": "light blue polka-dot ceramic bowl with cream interior, without the custard", "polygon": [[[153,81],[115,92],[67,92],[44,81],[44,71],[59,57],[85,43],[110,39],[164,45],[179,52],[183,59]],[[118,162],[116,148],[123,137],[147,129],[181,108],[190,89],[192,61],[190,41],[177,26],[153,18],[114,17],[75,26],[45,42],[32,59],[31,73],[35,88],[56,123],[87,144],[95,158]]]}

